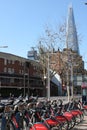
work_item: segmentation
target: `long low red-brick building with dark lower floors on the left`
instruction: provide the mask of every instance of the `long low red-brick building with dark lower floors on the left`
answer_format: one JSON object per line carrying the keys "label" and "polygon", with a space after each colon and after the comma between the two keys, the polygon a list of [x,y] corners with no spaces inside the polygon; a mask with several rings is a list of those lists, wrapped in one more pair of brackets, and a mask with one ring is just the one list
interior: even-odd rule
{"label": "long low red-brick building with dark lower floors on the left", "polygon": [[[51,82],[51,90],[58,92]],[[0,52],[0,94],[46,96],[43,69],[39,62]],[[53,95],[53,93],[51,93]],[[58,95],[58,93],[56,93]]]}

